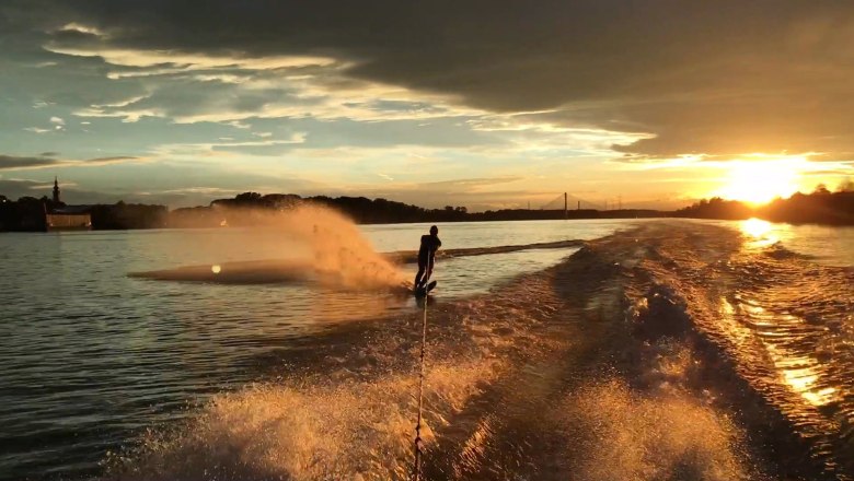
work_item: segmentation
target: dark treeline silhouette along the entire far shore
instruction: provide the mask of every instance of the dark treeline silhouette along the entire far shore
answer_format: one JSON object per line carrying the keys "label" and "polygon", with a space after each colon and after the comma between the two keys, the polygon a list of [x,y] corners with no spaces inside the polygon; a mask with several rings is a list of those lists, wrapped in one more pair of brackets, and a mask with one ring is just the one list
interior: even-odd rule
{"label": "dark treeline silhouette along the entire far shore", "polygon": [[[366,197],[300,197],[293,193],[244,192],[232,199],[217,199],[206,207],[181,208],[169,211],[164,206],[125,203],[76,206],[91,215],[94,230],[217,227],[254,225],[264,218],[253,212],[285,211],[303,202],[319,203],[335,209],[360,224],[460,221],[522,221],[555,219],[636,219],[636,218],[695,218],[742,220],[751,216],[773,222],[820,223],[854,225],[854,185],[846,183],[836,192],[819,186],[811,193],[795,193],[788,199],[776,199],[753,207],[746,202],[713,198],[703,199],[676,212],[656,210],[528,210],[501,209],[469,212],[465,207],[446,206],[425,209],[388,199]],[[44,231],[45,214],[61,210],[66,204],[47,197],[22,197],[18,201],[0,195],[0,231]]]}

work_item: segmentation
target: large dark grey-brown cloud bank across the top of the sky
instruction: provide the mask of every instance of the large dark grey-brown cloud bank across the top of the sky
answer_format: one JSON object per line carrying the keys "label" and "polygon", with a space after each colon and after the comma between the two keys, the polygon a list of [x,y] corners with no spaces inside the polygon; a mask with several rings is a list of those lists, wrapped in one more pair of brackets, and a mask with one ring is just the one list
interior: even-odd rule
{"label": "large dark grey-brown cloud bank across the top of the sky", "polygon": [[[0,9],[13,32],[27,25],[67,46],[334,55],[355,62],[351,78],[655,133],[620,148],[639,156],[854,151],[851,2],[22,0]],[[105,36],[62,31],[69,22]]]}

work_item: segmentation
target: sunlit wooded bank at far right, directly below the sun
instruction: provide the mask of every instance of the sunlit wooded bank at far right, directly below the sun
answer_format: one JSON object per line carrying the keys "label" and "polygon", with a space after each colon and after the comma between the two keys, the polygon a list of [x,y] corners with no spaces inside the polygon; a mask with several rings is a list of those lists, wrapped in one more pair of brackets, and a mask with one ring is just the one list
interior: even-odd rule
{"label": "sunlit wooded bank at far right, directly below the sun", "polygon": [[835,192],[820,185],[811,193],[797,192],[763,206],[750,206],[718,197],[703,199],[673,215],[695,219],[743,220],[760,218],[790,224],[854,225],[854,185],[845,183]]}

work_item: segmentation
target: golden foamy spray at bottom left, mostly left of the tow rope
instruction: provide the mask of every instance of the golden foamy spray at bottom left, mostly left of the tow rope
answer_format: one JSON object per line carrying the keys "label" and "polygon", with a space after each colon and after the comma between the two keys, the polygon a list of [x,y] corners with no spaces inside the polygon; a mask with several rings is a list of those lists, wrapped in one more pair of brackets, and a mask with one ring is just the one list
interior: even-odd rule
{"label": "golden foamy spray at bottom left, mostly left of the tow rope", "polygon": [[[435,365],[426,379],[431,426],[478,392],[488,363]],[[114,480],[390,480],[412,472],[416,378],[264,384],[215,396],[177,427],[149,431],[112,454]]]}

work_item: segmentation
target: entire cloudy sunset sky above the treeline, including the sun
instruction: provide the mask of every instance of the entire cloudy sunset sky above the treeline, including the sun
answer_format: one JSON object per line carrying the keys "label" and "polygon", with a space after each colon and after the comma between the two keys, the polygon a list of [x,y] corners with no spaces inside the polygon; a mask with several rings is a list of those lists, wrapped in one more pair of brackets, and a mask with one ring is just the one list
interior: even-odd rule
{"label": "entire cloudy sunset sky above the treeline, including the sun", "polygon": [[484,210],[832,188],[852,78],[847,1],[3,0],[0,193]]}

